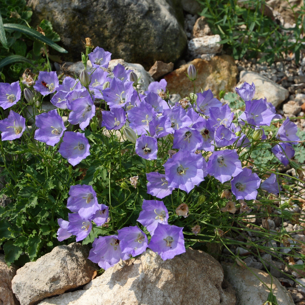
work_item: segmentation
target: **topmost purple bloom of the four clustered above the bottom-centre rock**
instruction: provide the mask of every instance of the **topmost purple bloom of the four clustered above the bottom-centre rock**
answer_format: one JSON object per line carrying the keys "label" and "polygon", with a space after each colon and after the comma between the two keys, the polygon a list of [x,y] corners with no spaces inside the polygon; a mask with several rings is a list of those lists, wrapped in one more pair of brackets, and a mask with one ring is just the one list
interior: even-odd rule
{"label": "topmost purple bloom of the four clustered above the bottom-centre rock", "polygon": [[137,221],[146,227],[150,235],[153,235],[158,223],[167,224],[168,211],[163,201],[143,200],[142,211]]}

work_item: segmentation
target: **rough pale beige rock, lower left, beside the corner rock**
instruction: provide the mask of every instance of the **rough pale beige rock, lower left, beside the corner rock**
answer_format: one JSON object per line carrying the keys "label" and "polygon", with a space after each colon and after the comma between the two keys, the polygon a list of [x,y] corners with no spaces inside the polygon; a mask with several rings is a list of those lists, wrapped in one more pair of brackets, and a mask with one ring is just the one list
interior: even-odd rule
{"label": "rough pale beige rock, lower left, beside the corner rock", "polygon": [[87,284],[96,276],[96,265],[87,259],[89,248],[73,242],[57,246],[36,262],[17,270],[12,289],[21,305],[35,304]]}

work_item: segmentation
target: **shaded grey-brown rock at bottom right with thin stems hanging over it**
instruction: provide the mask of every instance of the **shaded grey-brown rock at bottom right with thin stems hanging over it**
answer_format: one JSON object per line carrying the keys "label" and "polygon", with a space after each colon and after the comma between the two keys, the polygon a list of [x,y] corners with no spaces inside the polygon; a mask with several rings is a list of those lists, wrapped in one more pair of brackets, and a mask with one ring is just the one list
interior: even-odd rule
{"label": "shaded grey-brown rock at bottom right with thin stems hanging over it", "polygon": [[[271,287],[271,276],[267,272],[254,268],[249,268],[250,271],[230,263],[221,265],[225,279],[235,288],[236,305],[261,305],[267,301],[270,290],[262,283]],[[278,305],[294,305],[291,295],[276,278],[273,278],[272,293],[276,297]]]}

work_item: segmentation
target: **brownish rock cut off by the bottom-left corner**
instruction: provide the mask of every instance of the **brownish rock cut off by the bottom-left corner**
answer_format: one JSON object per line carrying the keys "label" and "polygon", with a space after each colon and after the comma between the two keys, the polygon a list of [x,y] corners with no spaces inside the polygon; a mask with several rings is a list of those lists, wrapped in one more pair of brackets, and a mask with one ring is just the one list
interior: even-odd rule
{"label": "brownish rock cut off by the bottom-left corner", "polygon": [[17,267],[11,264],[7,266],[4,255],[0,254],[0,304],[18,305],[18,301],[12,291],[12,279],[16,275]]}

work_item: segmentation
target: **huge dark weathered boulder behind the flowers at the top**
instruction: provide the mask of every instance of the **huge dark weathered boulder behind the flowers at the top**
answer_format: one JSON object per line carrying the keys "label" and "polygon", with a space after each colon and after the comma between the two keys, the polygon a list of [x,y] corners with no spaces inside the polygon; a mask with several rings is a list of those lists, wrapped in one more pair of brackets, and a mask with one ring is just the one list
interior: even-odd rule
{"label": "huge dark weathered boulder behind the flowers at the top", "polygon": [[[66,60],[80,59],[82,41],[149,69],[156,60],[175,62],[185,49],[181,3],[175,0],[28,0],[33,20],[52,20]],[[177,16],[180,20],[177,20]]]}

